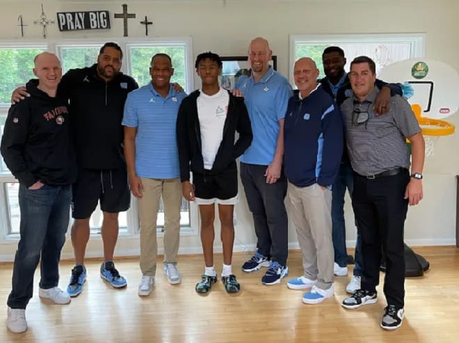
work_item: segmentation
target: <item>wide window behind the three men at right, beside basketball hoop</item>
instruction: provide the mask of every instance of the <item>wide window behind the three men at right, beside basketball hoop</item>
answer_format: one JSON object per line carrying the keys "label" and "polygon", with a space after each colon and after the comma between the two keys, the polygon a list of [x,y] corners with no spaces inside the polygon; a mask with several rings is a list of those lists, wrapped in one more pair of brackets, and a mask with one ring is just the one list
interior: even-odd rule
{"label": "wide window behind the three men at right, beside basketball hoop", "polygon": [[[351,61],[357,56],[369,56],[376,63],[376,73],[386,65],[407,58],[424,56],[425,35],[421,33],[403,33],[388,35],[291,35],[290,66],[300,57],[310,57],[323,74],[322,53],[325,47],[341,47],[347,58],[344,66],[349,71]],[[290,70],[293,84],[293,70]]]}

